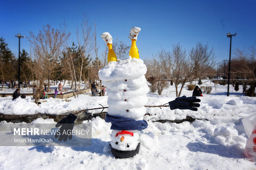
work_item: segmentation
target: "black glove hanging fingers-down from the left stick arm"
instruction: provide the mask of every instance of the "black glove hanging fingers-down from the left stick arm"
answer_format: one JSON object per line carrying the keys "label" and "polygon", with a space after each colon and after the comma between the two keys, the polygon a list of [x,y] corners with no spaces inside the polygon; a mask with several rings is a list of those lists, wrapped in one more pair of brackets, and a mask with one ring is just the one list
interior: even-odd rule
{"label": "black glove hanging fingers-down from the left stick arm", "polygon": [[[72,130],[74,128],[74,122],[76,118],[77,117],[71,113],[67,117],[62,118],[62,120],[60,120],[60,122],[55,125],[56,128],[61,126],[61,128],[55,134],[55,138],[59,138],[59,141],[67,141],[67,139],[71,140]],[[66,133],[63,133],[63,131]]]}

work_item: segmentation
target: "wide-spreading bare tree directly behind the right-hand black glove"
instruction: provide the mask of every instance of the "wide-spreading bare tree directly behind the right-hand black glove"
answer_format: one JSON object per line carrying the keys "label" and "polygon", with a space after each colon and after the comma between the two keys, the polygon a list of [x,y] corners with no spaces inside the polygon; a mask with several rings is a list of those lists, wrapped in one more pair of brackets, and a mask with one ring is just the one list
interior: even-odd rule
{"label": "wide-spreading bare tree directly behind the right-hand black glove", "polygon": [[[213,50],[201,43],[197,43],[196,47],[190,50],[189,56],[179,44],[173,45],[172,52],[164,49],[158,52],[160,66],[167,77],[173,80],[177,97],[181,95],[188,80],[198,78],[213,65],[213,58]],[[179,83],[181,83],[180,90],[178,90]]]}

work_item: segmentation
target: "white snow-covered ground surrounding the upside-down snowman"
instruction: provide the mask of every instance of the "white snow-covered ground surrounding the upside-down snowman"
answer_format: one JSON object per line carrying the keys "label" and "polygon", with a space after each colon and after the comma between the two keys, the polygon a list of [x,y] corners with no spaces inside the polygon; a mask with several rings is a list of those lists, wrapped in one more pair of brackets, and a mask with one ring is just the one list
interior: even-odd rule
{"label": "white snow-covered ground surrounding the upside-down snowman", "polygon": [[[235,91],[227,86],[204,80],[202,86],[212,86],[211,94],[199,97],[201,107],[197,112],[170,108],[147,108],[144,119],[148,128],[141,135],[140,153],[129,159],[116,159],[108,147],[110,123],[94,118],[92,146],[87,147],[0,147],[0,169],[256,169],[256,164],[243,157],[248,139],[242,117],[256,113],[256,98],[242,95],[242,86]],[[192,91],[182,90],[191,96]],[[147,105],[160,105],[175,99],[175,88],[170,86],[161,96],[149,93]],[[107,106],[107,96],[81,95],[70,98],[47,99],[40,106],[30,98],[12,101],[0,98],[0,113],[4,114],[61,114],[77,109]],[[97,112],[97,111],[94,111]],[[175,120],[191,116],[201,120],[193,123],[159,123],[155,120]],[[38,123],[53,122],[38,118]],[[3,122],[2,122],[3,123]],[[148,134],[148,135],[146,135]],[[157,136],[150,139],[150,137]],[[106,146],[106,147],[105,147]]]}

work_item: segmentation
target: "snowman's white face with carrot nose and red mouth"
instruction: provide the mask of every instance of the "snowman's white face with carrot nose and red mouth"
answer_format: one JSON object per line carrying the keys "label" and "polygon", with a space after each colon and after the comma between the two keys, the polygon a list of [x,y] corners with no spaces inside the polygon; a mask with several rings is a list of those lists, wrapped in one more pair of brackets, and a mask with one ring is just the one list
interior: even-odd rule
{"label": "snowman's white face with carrot nose and red mouth", "polygon": [[110,144],[117,150],[135,150],[139,143],[138,139],[138,132],[113,130]]}

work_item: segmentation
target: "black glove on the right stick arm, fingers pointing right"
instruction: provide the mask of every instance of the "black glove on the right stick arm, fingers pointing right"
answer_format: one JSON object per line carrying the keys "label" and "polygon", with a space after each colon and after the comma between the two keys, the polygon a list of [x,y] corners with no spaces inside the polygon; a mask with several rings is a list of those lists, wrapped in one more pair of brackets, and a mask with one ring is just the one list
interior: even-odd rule
{"label": "black glove on the right stick arm, fingers pointing right", "polygon": [[197,99],[195,96],[193,97],[177,97],[175,100],[169,102],[170,108],[173,109],[190,109],[191,111],[197,111],[196,107],[200,107],[199,103],[200,99]]}

